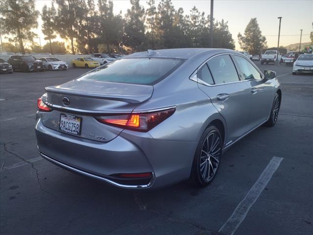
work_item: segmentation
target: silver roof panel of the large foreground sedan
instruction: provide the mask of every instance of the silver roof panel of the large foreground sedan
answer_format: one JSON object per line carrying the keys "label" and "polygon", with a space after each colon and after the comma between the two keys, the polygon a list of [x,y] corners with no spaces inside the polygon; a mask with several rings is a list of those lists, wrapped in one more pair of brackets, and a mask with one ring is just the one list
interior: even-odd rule
{"label": "silver roof panel of the large foreground sedan", "polygon": [[[179,59],[190,59],[194,56],[200,54],[219,54],[226,52],[235,52],[230,49],[219,49],[219,48],[175,48],[175,49],[160,49],[160,50],[151,50],[150,54],[147,51],[135,52],[131,55],[127,55],[123,58],[179,58]],[[238,53],[238,52],[237,52]]]}

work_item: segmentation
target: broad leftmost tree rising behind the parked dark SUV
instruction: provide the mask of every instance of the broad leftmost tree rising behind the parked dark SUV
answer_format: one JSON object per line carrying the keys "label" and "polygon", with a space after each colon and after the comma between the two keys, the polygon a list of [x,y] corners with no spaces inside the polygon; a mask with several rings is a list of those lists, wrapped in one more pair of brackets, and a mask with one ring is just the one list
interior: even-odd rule
{"label": "broad leftmost tree rising behind the parked dark SUV", "polygon": [[14,36],[11,41],[19,43],[22,54],[25,54],[24,41],[32,41],[36,36],[31,30],[38,26],[39,11],[35,10],[34,0],[1,0],[0,1],[1,33]]}

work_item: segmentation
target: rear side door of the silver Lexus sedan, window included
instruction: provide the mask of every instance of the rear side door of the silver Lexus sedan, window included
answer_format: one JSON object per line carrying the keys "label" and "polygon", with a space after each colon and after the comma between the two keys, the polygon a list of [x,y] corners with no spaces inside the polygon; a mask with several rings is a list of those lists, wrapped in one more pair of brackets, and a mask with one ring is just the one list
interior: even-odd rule
{"label": "rear side door of the silver Lexus sedan, window included", "polygon": [[210,97],[212,104],[226,121],[227,146],[247,131],[251,108],[250,89],[245,82],[240,81],[228,54],[210,58],[198,71],[197,77],[199,88]]}

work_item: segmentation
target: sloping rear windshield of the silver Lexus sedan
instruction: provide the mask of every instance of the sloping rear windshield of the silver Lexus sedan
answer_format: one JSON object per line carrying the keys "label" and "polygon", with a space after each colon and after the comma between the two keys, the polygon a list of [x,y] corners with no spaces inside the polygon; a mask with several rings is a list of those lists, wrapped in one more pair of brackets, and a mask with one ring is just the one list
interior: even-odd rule
{"label": "sloping rear windshield of the silver Lexus sedan", "polygon": [[183,63],[182,59],[172,58],[128,58],[115,60],[78,80],[96,80],[152,85],[168,76]]}

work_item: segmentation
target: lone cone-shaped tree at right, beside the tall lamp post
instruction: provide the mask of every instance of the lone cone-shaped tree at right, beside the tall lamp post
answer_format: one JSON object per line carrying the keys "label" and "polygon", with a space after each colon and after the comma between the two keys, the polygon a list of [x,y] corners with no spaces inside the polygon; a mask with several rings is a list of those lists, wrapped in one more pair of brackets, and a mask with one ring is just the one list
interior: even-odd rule
{"label": "lone cone-shaped tree at right, beside the tall lamp post", "polygon": [[262,36],[256,18],[252,18],[246,25],[244,36],[238,33],[239,45],[250,54],[258,54],[262,48],[266,47],[266,38]]}

